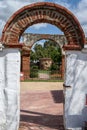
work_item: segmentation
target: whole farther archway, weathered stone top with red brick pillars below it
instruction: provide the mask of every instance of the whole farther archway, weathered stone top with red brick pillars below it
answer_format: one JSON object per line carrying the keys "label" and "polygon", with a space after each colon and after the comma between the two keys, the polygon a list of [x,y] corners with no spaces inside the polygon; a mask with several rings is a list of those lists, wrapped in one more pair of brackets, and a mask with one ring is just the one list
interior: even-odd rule
{"label": "whole farther archway, weathered stone top with red brick pillars below it", "polygon": [[[30,78],[30,51],[32,46],[39,40],[52,40],[56,42],[57,45],[61,48],[62,52],[62,78],[64,78],[64,55],[65,52],[63,50],[63,46],[67,45],[67,39],[64,35],[52,35],[52,34],[32,34],[32,33],[24,33],[22,35],[23,43],[28,46],[29,51],[23,51],[21,56],[21,71],[24,73],[24,79]],[[23,48],[25,50],[26,47]]]}

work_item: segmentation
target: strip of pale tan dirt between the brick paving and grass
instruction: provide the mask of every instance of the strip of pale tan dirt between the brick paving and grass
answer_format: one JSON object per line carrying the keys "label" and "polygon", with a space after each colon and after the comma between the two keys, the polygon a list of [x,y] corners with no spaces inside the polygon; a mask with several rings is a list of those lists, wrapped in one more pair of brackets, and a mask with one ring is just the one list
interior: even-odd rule
{"label": "strip of pale tan dirt between the brick paving and grass", "polygon": [[21,82],[21,91],[63,90],[63,82]]}

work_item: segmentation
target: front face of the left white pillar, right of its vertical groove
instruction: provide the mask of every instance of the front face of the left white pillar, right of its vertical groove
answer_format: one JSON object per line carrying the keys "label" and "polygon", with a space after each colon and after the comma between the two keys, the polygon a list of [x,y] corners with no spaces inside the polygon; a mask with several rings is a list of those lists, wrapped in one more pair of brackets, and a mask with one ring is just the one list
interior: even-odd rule
{"label": "front face of the left white pillar, right of its vertical groove", "polygon": [[18,130],[20,116],[20,52],[19,49],[6,49],[6,129]]}

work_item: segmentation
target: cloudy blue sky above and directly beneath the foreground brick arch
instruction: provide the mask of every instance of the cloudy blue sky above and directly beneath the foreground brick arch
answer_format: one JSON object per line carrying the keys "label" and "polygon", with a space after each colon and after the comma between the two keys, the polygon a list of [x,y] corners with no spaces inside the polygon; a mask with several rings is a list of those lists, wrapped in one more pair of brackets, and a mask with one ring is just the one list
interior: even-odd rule
{"label": "cloudy blue sky above and directly beneath the foreground brick arch", "polygon": [[[35,2],[54,2],[69,9],[79,20],[87,36],[87,0],[0,0],[0,37],[9,17],[18,9]],[[29,33],[63,34],[57,27],[47,23],[27,28]]]}

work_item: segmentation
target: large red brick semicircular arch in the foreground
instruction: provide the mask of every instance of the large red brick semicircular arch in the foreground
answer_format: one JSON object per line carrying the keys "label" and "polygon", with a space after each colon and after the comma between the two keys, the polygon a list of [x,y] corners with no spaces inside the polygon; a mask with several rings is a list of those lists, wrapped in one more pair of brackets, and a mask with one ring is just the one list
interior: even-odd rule
{"label": "large red brick semicircular arch in the foreground", "polygon": [[65,7],[48,2],[24,6],[15,12],[3,29],[1,41],[7,46],[19,45],[22,33],[36,23],[50,23],[60,28],[68,41],[65,49],[84,47],[85,35],[77,18]]}

